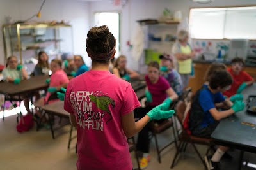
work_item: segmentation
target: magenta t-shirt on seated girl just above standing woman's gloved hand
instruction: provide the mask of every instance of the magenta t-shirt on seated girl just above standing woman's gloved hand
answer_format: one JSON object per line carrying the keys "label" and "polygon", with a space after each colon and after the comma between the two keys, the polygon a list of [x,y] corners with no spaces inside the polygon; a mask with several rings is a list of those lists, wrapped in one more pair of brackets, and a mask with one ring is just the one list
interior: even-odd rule
{"label": "magenta t-shirt on seated girl just above standing woman's gloved hand", "polygon": [[153,84],[148,78],[148,75],[145,76],[147,83],[148,91],[152,94],[152,103],[148,103],[150,106],[157,106],[168,97],[166,90],[170,88],[170,84],[163,77],[159,76],[157,83]]}

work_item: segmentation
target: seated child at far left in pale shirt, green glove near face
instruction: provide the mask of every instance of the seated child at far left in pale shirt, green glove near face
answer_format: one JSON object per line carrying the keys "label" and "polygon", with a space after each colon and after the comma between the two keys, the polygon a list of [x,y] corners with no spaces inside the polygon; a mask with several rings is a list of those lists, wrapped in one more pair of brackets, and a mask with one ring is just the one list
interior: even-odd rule
{"label": "seated child at far left in pale shirt, green glove near face", "polygon": [[[18,59],[16,56],[10,56],[7,58],[6,68],[3,69],[3,80],[9,83],[19,84],[20,80],[28,79],[28,73],[25,68],[18,64]],[[28,113],[31,113],[29,110],[29,96],[22,95],[21,98],[24,101],[24,106]]]}

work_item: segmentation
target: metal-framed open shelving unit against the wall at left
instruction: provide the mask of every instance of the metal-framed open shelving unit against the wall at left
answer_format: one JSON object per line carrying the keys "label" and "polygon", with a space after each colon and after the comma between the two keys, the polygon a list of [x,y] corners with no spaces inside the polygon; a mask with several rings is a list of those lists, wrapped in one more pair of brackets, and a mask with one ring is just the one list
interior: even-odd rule
{"label": "metal-framed open shelving unit against the wall at left", "polygon": [[17,56],[28,73],[41,50],[47,52],[49,61],[62,53],[73,53],[72,27],[67,24],[5,24],[3,41],[5,57]]}

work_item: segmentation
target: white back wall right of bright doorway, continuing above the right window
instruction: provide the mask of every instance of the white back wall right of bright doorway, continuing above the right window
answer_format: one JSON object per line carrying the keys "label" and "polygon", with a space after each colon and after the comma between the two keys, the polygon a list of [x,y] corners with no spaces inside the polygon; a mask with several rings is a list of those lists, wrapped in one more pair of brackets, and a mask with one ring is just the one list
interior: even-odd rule
{"label": "white back wall right of bright doorway, continuing above the right window", "polygon": [[122,6],[113,6],[109,1],[100,1],[90,3],[90,26],[93,25],[93,13],[97,11],[120,11],[121,13],[121,53],[127,55],[128,66],[138,70],[138,63],[134,63],[131,57],[131,51],[126,42],[131,40],[132,33],[136,27],[136,20],[147,18],[158,18],[164,8],[171,11],[182,11],[183,18],[189,17],[189,8],[205,6],[234,6],[234,5],[253,5],[255,0],[215,0],[211,4],[198,4],[190,0],[128,0],[127,4]]}

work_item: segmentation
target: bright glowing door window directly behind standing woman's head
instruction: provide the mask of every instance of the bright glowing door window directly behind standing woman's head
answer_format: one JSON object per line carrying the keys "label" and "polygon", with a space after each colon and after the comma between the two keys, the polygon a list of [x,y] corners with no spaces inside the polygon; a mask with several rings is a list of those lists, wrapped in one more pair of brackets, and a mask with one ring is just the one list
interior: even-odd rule
{"label": "bright glowing door window directly behind standing woman's head", "polygon": [[120,15],[118,12],[100,12],[95,13],[95,25],[102,26],[107,25],[109,31],[116,38],[116,54],[115,56],[120,55]]}

